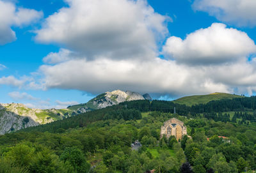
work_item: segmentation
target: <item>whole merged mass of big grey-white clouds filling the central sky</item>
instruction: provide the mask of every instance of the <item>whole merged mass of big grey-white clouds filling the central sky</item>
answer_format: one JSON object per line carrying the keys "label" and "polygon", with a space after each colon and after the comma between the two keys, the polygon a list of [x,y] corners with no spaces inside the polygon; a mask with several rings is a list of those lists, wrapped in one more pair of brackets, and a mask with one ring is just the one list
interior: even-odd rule
{"label": "whole merged mass of big grey-white clouds filling the central sky", "polygon": [[243,31],[212,24],[184,40],[171,36],[159,58],[157,43],[168,34],[169,19],[145,1],[67,3],[36,31],[37,41],[62,49],[45,55],[37,71],[42,77],[26,86],[172,96],[256,91],[256,46]]}

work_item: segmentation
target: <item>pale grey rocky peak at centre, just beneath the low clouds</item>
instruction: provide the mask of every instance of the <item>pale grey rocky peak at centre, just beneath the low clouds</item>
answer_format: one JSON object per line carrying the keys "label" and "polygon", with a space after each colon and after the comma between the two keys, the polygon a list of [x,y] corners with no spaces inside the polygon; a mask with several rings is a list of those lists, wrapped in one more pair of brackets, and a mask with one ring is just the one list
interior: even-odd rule
{"label": "pale grey rocky peak at centre, just beneath the low clouds", "polygon": [[118,89],[112,92],[102,93],[87,103],[67,107],[67,109],[76,111],[77,114],[81,114],[91,110],[102,109],[105,107],[118,105],[119,103],[132,100],[152,100],[152,98],[150,97],[149,94],[144,94],[142,96],[141,94],[136,92],[121,91]]}

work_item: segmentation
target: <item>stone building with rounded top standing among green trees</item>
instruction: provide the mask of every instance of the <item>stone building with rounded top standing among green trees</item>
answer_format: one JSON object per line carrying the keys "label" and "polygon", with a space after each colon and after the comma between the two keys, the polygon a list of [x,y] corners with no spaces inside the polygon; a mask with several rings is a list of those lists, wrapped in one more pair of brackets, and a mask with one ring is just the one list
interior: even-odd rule
{"label": "stone building with rounded top standing among green trees", "polygon": [[187,134],[187,128],[182,121],[176,119],[175,117],[165,121],[163,126],[161,126],[161,134],[162,138],[164,135],[166,138],[170,136],[175,136],[177,140],[182,139],[183,135]]}

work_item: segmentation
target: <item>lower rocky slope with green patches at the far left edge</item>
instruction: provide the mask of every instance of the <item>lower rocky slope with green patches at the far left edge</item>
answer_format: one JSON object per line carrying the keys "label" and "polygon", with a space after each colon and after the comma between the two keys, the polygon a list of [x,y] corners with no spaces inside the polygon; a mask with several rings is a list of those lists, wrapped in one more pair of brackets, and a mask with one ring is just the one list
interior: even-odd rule
{"label": "lower rocky slope with green patches at the far left edge", "polygon": [[68,109],[29,109],[20,103],[0,104],[0,135],[71,116]]}

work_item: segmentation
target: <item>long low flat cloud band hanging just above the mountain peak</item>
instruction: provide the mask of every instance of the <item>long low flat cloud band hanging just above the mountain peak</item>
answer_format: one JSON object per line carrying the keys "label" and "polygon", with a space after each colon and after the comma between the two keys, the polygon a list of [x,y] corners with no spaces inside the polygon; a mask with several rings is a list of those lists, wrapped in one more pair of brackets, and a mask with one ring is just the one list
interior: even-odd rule
{"label": "long low flat cloud band hanging just above the mountain peak", "polygon": [[188,66],[151,59],[115,61],[84,59],[41,66],[46,88],[103,93],[114,89],[180,96],[214,92],[256,91],[256,64],[245,60],[212,66]]}

